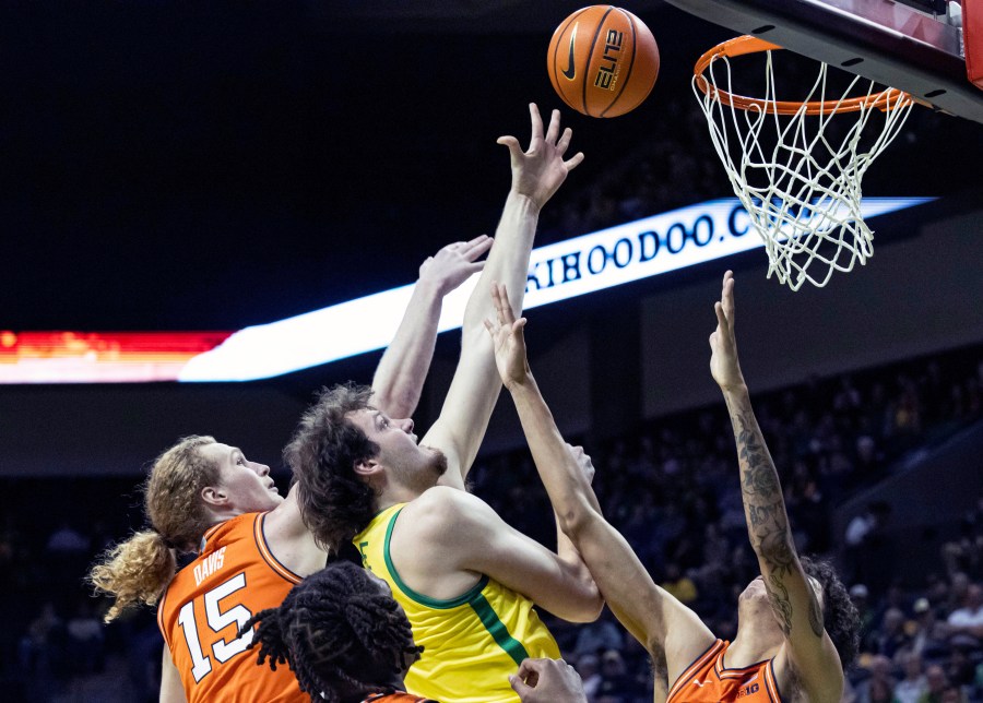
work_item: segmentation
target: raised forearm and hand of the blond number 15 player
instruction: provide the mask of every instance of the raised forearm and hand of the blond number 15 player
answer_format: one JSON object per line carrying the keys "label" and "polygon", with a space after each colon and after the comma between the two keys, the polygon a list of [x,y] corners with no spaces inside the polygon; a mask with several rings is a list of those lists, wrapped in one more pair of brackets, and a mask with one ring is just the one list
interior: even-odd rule
{"label": "raised forearm and hand of the blond number 15 player", "polygon": [[443,297],[484,267],[477,259],[490,248],[486,235],[458,241],[419,267],[410,305],[372,378],[372,404],[390,417],[410,417],[416,409],[434,358]]}

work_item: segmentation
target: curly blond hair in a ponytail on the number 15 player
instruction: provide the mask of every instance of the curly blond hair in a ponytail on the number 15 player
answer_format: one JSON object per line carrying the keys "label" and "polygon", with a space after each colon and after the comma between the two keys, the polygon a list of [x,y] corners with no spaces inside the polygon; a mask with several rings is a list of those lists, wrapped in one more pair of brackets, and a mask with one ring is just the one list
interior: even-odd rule
{"label": "curly blond hair in a ponytail on the number 15 player", "polygon": [[97,591],[115,598],[106,622],[131,606],[156,604],[177,572],[177,555],[198,549],[211,524],[201,490],[218,482],[218,466],[200,450],[214,443],[211,437],[186,437],[154,462],[143,487],[152,528],[109,548],[88,573]]}

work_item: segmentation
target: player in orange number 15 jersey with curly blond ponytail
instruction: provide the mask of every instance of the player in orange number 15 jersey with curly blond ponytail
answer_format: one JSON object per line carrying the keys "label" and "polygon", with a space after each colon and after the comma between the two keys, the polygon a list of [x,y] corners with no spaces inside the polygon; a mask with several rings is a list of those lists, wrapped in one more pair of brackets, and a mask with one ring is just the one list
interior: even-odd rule
{"label": "player in orange number 15 jersey with curly blond ponytail", "polygon": [[[400,417],[421,390],[443,296],[483,267],[488,237],[445,247],[421,277],[395,338],[374,379],[374,397]],[[155,462],[145,485],[152,525],[93,567],[92,583],[115,597],[106,620],[159,601],[166,641],[162,701],[214,701],[228,689],[244,700],[305,700],[293,674],[270,672],[244,654],[239,628],[280,605],[300,576],[322,569],[327,552],[304,527],[296,495],[279,495],[270,467],[211,437],[185,438]],[[177,570],[181,555],[197,558]]]}

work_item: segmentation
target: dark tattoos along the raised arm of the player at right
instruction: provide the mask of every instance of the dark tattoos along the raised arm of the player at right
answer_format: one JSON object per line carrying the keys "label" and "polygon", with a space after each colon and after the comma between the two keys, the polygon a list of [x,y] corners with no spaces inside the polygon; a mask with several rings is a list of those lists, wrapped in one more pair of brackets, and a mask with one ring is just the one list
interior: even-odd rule
{"label": "dark tattoos along the raised arm of the player at right", "polygon": [[[747,532],[755,552],[767,564],[765,588],[771,607],[787,636],[792,632],[792,600],[785,577],[795,568],[795,547],[778,472],[765,445],[761,429],[747,398],[732,401],[727,409],[737,441],[741,465],[741,492],[747,514]],[[822,613],[815,597],[809,604],[809,624],[816,636],[822,635]]]}

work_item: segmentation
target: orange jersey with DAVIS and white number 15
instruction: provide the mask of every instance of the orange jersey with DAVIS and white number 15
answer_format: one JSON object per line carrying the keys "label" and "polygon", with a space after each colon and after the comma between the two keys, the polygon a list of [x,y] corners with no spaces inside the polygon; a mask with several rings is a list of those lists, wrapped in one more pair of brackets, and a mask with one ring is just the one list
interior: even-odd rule
{"label": "orange jersey with DAVIS and white number 15", "polygon": [[257,665],[252,632],[239,628],[275,608],[300,576],[273,557],[263,538],[265,513],[246,513],[210,528],[198,558],[168,584],[157,625],[181,676],[188,703],[309,703],[286,665]]}

